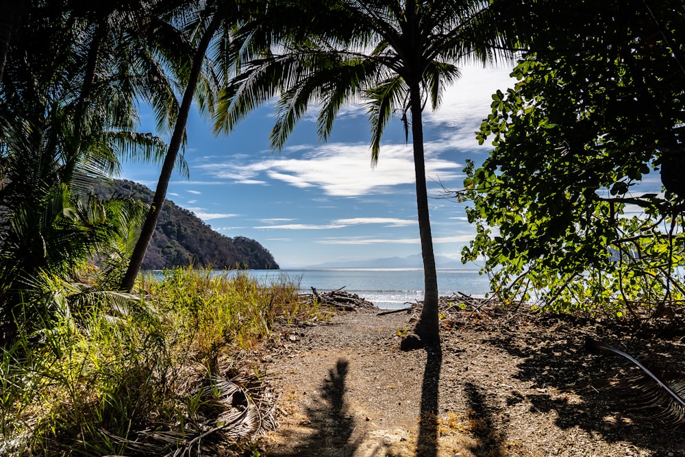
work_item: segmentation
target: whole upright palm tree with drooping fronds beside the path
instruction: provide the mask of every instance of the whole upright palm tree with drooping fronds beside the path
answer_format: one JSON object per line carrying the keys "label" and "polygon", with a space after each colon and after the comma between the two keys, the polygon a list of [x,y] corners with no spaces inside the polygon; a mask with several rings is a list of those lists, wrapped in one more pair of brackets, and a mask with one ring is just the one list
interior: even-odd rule
{"label": "whole upright palm tree with drooping fronds beside the path", "polygon": [[[301,3],[301,2],[297,2]],[[429,219],[422,112],[436,110],[457,62],[493,62],[512,49],[500,3],[477,0],[327,0],[301,6],[297,41],[284,52],[247,62],[220,99],[217,129],[231,129],[249,110],[280,95],[271,144],[280,149],[310,103],[320,103],[325,140],[340,106],[366,101],[372,127],[371,159],[379,158],[384,127],[401,113],[411,131],[416,175],[425,299],[406,347],[439,342],[438,284]],[[268,23],[268,21],[265,21]],[[508,25],[509,26],[509,25]],[[418,338],[417,338],[418,337]]]}

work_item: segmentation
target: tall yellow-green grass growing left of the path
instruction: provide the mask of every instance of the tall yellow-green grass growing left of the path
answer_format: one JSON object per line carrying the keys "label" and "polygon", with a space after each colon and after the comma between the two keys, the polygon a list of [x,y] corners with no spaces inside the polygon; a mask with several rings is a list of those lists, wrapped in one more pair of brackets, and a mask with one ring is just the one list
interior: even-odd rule
{"label": "tall yellow-green grass growing left of the path", "polygon": [[245,358],[275,319],[319,312],[303,308],[297,284],[283,278],[261,284],[206,270],[148,278],[135,297],[66,284],[52,292],[63,308],[57,321],[1,349],[0,455],[205,449],[207,430],[234,436],[229,423],[257,414],[243,405],[226,419],[241,408],[235,391],[262,395]]}

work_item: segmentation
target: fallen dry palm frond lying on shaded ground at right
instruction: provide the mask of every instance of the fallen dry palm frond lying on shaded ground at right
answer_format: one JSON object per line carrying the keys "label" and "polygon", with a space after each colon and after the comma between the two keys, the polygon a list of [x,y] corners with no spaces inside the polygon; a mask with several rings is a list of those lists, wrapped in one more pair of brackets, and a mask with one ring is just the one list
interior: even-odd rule
{"label": "fallen dry palm frond lying on shaded ground at right", "polygon": [[623,378],[616,386],[628,397],[632,409],[655,410],[653,417],[673,425],[685,423],[685,374],[659,367],[647,368],[636,358],[592,338],[586,341],[590,351],[603,351],[623,357],[639,374]]}

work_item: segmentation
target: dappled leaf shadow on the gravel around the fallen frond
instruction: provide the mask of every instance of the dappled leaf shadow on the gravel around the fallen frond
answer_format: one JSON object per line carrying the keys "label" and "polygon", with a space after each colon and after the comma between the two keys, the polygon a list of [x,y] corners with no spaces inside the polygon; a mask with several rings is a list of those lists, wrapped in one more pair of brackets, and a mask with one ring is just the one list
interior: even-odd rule
{"label": "dappled leaf shadow on the gravel around the fallen frond", "polygon": [[[674,431],[672,424],[627,410],[630,399],[616,397],[617,391],[606,386],[604,381],[610,378],[638,374],[630,364],[615,356],[589,354],[584,348],[585,330],[579,331],[577,323],[566,322],[563,317],[558,318],[556,325],[546,322],[539,328],[540,332],[525,334],[493,332],[485,340],[523,359],[514,377],[530,383],[536,391],[534,394],[512,391],[508,405],[527,402],[532,412],[556,412],[556,425],[562,429],[582,428],[601,434],[608,442],[625,441],[645,447],[653,456],[685,457],[685,434],[682,433],[685,425]],[[600,335],[593,329],[588,333],[608,340],[638,359],[677,362],[681,371],[685,367],[682,347],[675,340],[629,338],[606,330]],[[467,385],[467,393],[469,388]],[[564,392],[577,393],[580,402],[569,402]],[[477,391],[469,394],[472,402],[477,400],[473,397],[476,394]]]}

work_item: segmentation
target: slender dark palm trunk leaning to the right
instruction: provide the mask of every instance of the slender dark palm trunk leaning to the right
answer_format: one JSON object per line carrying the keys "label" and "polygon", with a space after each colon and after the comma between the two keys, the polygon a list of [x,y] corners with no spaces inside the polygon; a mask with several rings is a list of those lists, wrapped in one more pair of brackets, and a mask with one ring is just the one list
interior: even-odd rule
{"label": "slender dark palm trunk leaning to the right", "polygon": [[140,237],[138,238],[136,247],[134,247],[128,269],[126,270],[123,280],[121,280],[121,290],[123,291],[131,292],[133,290],[136,277],[138,277],[138,273],[140,273],[140,266],[142,265],[142,261],[145,259],[145,254],[147,253],[147,247],[152,240],[152,236],[155,233],[155,228],[157,227],[157,222],[160,219],[162,206],[164,205],[164,199],[166,199],[166,190],[169,188],[169,180],[171,180],[174,164],[178,156],[178,151],[181,149],[184,132],[186,131],[188,114],[190,113],[192,98],[195,96],[195,89],[197,88],[197,82],[199,81],[202,70],[202,63],[205,59],[210,41],[212,40],[216,29],[219,28],[219,24],[221,23],[220,16],[221,15],[219,12],[214,13],[212,22],[202,36],[199,45],[197,46],[195,56],[192,59],[190,77],[188,78],[188,84],[186,85],[186,90],[183,94],[183,99],[179,108],[178,117],[176,118],[171,141],[169,142],[169,150],[166,152],[164,164],[162,164],[162,171],[160,172],[160,180],[157,184],[157,189],[155,190],[155,196],[152,199],[145,223],[143,223],[140,230]]}

